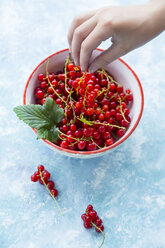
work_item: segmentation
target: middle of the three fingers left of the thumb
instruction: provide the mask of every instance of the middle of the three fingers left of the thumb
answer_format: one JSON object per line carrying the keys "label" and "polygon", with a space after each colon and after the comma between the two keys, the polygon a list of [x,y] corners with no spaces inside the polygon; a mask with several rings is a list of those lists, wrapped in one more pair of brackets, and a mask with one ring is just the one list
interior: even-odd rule
{"label": "middle of the three fingers left of the thumb", "polygon": [[92,32],[92,30],[95,28],[96,25],[97,25],[96,19],[92,17],[75,29],[72,38],[71,51],[76,65],[80,64],[79,58],[80,58],[81,44],[83,40],[86,39],[86,37]]}

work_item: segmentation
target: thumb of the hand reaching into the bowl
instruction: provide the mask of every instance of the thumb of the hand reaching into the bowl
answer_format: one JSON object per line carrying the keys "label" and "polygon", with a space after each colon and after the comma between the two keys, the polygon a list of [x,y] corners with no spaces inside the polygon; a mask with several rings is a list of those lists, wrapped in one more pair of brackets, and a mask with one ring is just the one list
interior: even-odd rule
{"label": "thumb of the hand reaching into the bowl", "polygon": [[103,51],[91,62],[88,70],[90,73],[102,68],[114,60],[118,59],[120,56],[124,55],[121,45],[112,44],[107,50]]}

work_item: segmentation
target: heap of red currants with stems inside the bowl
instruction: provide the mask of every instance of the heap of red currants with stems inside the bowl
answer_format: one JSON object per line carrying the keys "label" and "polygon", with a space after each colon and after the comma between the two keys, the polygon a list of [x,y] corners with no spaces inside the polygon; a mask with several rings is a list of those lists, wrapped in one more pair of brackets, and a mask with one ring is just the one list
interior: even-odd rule
{"label": "heap of red currants with stems inside the bowl", "polygon": [[111,146],[130,124],[130,89],[104,69],[82,72],[68,58],[64,70],[38,75],[36,103],[51,97],[64,109],[56,145],[65,149],[94,151]]}

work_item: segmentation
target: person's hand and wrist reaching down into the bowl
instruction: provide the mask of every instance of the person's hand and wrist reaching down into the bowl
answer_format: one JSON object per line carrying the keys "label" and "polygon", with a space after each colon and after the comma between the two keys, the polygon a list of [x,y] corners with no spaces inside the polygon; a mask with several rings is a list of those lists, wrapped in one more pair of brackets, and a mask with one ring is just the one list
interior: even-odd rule
{"label": "person's hand and wrist reaching down into the bowl", "polygon": [[[94,72],[145,44],[165,28],[165,3],[152,0],[137,6],[107,6],[74,18],[68,41],[76,65]],[[91,60],[92,51],[111,38],[112,45]]]}

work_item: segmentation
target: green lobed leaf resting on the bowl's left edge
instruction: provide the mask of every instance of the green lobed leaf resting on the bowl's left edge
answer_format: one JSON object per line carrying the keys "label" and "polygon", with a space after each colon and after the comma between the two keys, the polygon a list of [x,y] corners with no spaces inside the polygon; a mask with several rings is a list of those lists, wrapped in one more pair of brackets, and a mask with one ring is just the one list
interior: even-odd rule
{"label": "green lobed leaf resting on the bowl's left edge", "polygon": [[64,110],[52,98],[46,98],[44,105],[20,105],[13,110],[20,120],[37,130],[37,139],[56,142],[57,124],[62,120]]}

